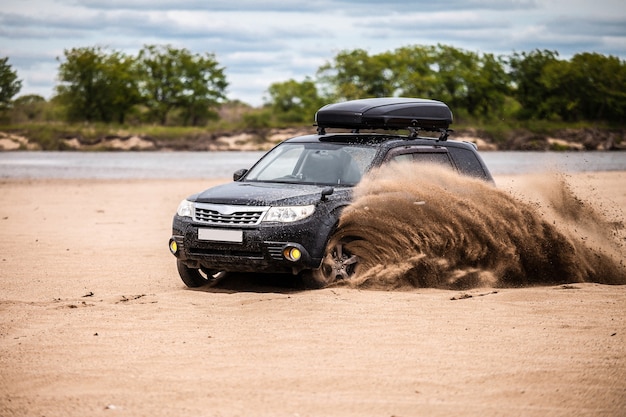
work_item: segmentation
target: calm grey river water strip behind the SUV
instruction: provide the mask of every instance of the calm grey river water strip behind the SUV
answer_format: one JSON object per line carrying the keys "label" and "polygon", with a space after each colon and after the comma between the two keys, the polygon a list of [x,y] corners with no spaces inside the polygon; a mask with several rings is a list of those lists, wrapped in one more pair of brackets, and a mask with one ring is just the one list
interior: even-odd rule
{"label": "calm grey river water strip behind the SUV", "polygon": [[[0,152],[0,178],[230,178],[264,152]],[[626,152],[482,152],[492,174],[626,171]]]}

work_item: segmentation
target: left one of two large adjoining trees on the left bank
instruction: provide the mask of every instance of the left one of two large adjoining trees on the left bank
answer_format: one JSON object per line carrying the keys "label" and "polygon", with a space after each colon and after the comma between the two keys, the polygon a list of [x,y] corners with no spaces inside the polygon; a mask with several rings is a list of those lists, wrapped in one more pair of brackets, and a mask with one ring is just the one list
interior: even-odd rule
{"label": "left one of two large adjoining trees on the left bank", "polygon": [[64,52],[58,75],[61,84],[56,90],[69,120],[124,123],[140,98],[135,59],[101,47]]}

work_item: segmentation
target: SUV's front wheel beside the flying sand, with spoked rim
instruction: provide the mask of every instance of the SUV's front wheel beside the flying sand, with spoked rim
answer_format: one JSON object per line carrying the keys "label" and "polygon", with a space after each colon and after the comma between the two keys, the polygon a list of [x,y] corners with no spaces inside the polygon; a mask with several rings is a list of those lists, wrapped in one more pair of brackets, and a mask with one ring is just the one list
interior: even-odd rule
{"label": "SUV's front wheel beside the flying sand, with spoked rim", "polygon": [[359,258],[345,248],[345,244],[350,241],[331,239],[320,267],[303,275],[305,286],[323,288],[333,282],[351,279],[357,271]]}

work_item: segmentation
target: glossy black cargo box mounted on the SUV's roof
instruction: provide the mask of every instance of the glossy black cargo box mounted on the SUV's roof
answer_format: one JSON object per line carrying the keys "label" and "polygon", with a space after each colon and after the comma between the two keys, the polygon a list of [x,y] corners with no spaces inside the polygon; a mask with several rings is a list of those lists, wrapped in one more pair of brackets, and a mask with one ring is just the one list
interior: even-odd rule
{"label": "glossy black cargo box mounted on the SUV's roof", "polygon": [[366,98],[328,104],[317,111],[318,129],[407,129],[440,131],[452,123],[452,112],[437,100],[405,97]]}

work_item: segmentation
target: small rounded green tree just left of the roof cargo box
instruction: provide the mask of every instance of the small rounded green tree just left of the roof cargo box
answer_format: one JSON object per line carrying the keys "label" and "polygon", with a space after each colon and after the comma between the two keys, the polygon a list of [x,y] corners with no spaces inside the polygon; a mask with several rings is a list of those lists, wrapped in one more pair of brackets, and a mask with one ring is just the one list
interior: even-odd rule
{"label": "small rounded green tree just left of the roof cargo box", "polygon": [[325,104],[318,94],[315,82],[288,80],[274,83],[268,89],[270,106],[278,120],[287,123],[313,123],[313,115]]}

